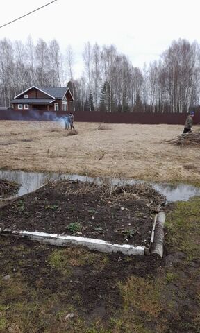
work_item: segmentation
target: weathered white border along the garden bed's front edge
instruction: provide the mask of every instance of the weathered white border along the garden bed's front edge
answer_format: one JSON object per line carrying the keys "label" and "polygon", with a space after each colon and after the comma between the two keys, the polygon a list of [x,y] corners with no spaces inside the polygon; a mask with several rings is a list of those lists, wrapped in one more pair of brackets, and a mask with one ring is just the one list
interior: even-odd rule
{"label": "weathered white border along the garden bed's front edge", "polygon": [[149,248],[145,246],[119,245],[111,244],[101,239],[92,239],[86,237],[66,236],[60,234],[47,234],[46,232],[28,232],[28,231],[12,231],[9,229],[1,230],[1,234],[12,234],[18,237],[26,237],[40,243],[51,244],[56,246],[86,246],[90,250],[97,250],[104,253],[121,252],[124,255],[144,255],[149,253]]}

